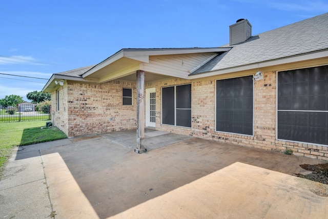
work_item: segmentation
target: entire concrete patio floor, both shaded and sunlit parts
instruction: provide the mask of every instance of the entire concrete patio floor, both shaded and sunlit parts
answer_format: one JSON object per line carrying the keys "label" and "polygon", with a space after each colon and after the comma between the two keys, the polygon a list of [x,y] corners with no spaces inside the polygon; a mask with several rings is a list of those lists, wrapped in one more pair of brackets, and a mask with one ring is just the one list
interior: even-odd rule
{"label": "entire concrete patio floor, both shaded and sunlit parts", "polygon": [[[325,161],[183,136],[137,154],[120,144],[135,131],[120,134],[119,143],[104,134],[20,148],[0,181],[0,218],[23,218],[25,212],[31,217],[24,218],[45,218],[52,210],[55,218],[328,215],[328,185],[295,176],[309,173],[299,165]],[[179,139],[156,132],[148,137],[158,138],[158,144]],[[45,177],[31,182],[43,170]]]}

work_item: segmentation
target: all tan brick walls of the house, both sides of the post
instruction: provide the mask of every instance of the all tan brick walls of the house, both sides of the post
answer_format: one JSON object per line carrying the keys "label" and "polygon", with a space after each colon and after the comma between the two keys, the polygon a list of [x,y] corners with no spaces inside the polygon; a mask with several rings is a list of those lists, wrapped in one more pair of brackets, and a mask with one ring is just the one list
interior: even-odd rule
{"label": "all tan brick walls of the house, both sides of the post", "polygon": [[[326,146],[276,140],[276,71],[263,73],[264,79],[254,82],[254,136],[215,131],[215,81],[218,78],[173,78],[146,83],[156,88],[156,129],[209,140],[232,143],[265,150],[293,150],[293,154],[328,161]],[[220,77],[222,78],[222,76]],[[192,84],[192,127],[161,124],[161,88]],[[132,88],[133,106],[122,106],[122,88]],[[55,126],[68,136],[129,130],[136,128],[136,84],[111,81],[104,84],[68,82],[59,88],[60,111],[56,111],[55,92],[52,109]]]}

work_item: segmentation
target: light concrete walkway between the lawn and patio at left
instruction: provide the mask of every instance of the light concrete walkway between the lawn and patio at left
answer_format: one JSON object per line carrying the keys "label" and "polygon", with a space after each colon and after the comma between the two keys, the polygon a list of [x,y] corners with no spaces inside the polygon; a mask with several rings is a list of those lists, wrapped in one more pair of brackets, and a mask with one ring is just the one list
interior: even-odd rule
{"label": "light concrete walkway between the lawn and patio at left", "polygon": [[[0,218],[47,218],[52,212],[40,150],[69,139],[15,148],[0,181]],[[49,217],[48,217],[49,218]]]}

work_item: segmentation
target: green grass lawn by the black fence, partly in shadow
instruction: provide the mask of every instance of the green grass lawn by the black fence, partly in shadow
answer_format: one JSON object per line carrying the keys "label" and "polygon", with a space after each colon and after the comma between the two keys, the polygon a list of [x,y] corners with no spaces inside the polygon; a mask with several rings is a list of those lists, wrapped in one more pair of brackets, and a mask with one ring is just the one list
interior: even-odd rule
{"label": "green grass lawn by the black fence, partly in shadow", "polygon": [[0,123],[0,175],[11,156],[11,149],[17,146],[32,145],[67,138],[57,127],[44,128],[47,121]]}

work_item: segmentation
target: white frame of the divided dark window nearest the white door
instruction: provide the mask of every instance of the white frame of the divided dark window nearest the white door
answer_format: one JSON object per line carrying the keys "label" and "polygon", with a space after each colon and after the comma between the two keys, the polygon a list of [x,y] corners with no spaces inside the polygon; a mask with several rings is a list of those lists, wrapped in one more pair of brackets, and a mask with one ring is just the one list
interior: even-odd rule
{"label": "white frame of the divided dark window nearest the white door", "polygon": [[[190,85],[190,109],[189,108],[177,108],[177,96],[176,96],[176,87],[178,86],[184,86],[184,85]],[[163,88],[170,88],[170,87],[174,87],[174,125],[171,124],[165,124],[163,123]],[[181,128],[188,128],[191,129],[192,128],[192,120],[191,120],[191,115],[190,115],[190,127],[188,126],[179,126],[176,125],[177,124],[177,110],[190,110],[190,114],[192,111],[192,84],[191,83],[187,83],[187,84],[181,84],[181,85],[172,85],[172,86],[165,86],[165,87],[161,87],[161,98],[160,98],[160,107],[161,107],[161,121],[160,124],[161,125],[166,125],[166,126],[173,126],[173,127],[181,127]]]}

